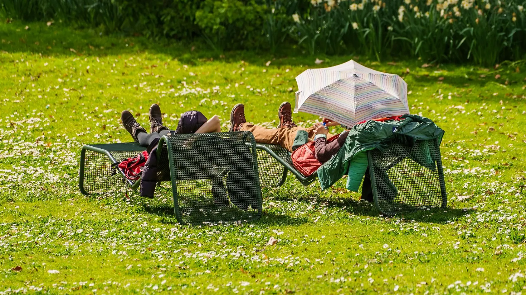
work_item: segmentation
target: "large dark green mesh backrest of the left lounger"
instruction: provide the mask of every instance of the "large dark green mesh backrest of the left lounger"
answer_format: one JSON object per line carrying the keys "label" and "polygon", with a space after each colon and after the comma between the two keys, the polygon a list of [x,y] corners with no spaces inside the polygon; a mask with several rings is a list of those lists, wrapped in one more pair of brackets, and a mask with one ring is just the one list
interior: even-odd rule
{"label": "large dark green mesh backrest of the left lounger", "polygon": [[169,163],[175,214],[180,223],[236,222],[261,216],[252,133],[170,135],[163,136],[159,146],[158,162]]}

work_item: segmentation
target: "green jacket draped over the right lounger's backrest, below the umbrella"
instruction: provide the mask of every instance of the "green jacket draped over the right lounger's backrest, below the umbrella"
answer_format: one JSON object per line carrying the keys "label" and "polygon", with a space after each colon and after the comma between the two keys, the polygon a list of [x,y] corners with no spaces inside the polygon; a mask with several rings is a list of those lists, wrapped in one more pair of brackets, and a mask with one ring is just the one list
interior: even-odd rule
{"label": "green jacket draped over the right lounger's backrest, below the umbrella", "polygon": [[367,151],[386,150],[393,143],[413,146],[417,140],[437,138],[440,142],[444,131],[433,121],[418,115],[405,114],[399,121],[379,122],[369,120],[357,124],[349,131],[345,144],[328,162],[318,168],[321,189],[335,184],[347,174],[347,189],[358,192],[360,183],[369,165]]}

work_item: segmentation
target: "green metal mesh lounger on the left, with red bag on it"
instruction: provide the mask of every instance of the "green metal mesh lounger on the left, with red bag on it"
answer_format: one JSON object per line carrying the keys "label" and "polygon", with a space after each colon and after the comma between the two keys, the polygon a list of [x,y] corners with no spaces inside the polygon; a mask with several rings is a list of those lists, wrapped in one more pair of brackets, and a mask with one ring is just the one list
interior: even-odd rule
{"label": "green metal mesh lounger on the left, with red bag on it", "polygon": [[[112,176],[110,165],[144,150],[135,143],[84,145],[80,191],[88,195],[126,186],[136,188],[138,181]],[[163,136],[157,157],[157,181],[171,181],[179,223],[238,222],[261,216],[261,187],[252,133]]]}

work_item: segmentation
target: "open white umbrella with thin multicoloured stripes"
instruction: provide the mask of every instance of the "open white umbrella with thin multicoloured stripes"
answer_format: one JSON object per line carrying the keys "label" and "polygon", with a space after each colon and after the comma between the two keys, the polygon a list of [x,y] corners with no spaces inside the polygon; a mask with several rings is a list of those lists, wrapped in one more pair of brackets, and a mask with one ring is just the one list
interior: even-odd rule
{"label": "open white umbrella with thin multicoloured stripes", "polygon": [[296,82],[295,113],[320,115],[349,127],[363,120],[409,113],[407,83],[400,76],[369,69],[354,60],[308,69]]}

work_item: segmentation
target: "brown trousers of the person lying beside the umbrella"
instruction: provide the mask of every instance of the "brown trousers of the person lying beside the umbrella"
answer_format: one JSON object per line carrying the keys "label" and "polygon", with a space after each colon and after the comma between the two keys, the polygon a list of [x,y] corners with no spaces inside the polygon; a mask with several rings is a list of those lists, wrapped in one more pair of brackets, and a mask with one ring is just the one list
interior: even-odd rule
{"label": "brown trousers of the person lying beside the umbrella", "polygon": [[274,128],[268,129],[252,123],[245,123],[242,125],[240,131],[250,131],[254,134],[254,138],[257,143],[267,143],[280,145],[282,148],[289,152],[292,152],[292,145],[294,145],[294,139],[298,130],[305,130],[309,133],[309,139],[314,138],[314,126],[309,128]]}

